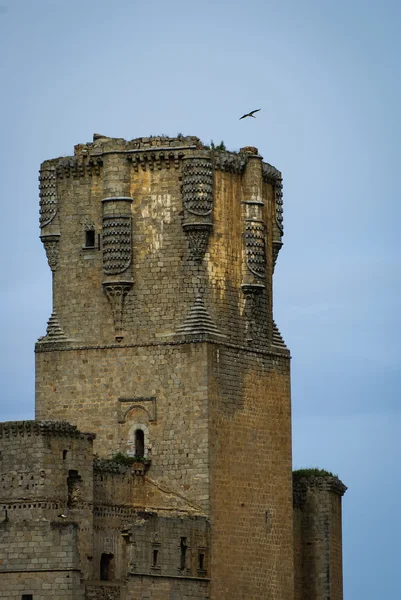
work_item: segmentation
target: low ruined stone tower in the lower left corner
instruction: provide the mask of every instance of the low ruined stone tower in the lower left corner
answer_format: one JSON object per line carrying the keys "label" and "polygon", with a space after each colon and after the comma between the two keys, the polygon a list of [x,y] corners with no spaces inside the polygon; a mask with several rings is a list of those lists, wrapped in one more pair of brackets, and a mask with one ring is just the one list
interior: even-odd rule
{"label": "low ruined stone tower in the lower left corner", "polygon": [[2,600],[84,599],[93,555],[93,437],[68,423],[0,423]]}

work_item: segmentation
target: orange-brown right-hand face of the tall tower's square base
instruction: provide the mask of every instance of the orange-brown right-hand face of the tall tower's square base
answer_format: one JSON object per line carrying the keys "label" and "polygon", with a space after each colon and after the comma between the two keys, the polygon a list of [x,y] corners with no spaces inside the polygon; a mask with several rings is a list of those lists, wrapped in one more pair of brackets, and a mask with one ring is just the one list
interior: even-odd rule
{"label": "orange-brown right-hand face of the tall tower's square base", "polygon": [[211,597],[293,600],[289,359],[210,346]]}

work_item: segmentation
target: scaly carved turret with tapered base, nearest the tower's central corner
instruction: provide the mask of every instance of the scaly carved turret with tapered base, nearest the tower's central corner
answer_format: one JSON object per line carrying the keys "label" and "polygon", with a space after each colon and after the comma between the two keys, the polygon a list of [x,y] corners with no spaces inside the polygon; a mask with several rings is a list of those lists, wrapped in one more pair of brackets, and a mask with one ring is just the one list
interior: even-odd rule
{"label": "scaly carved turret with tapered base, nearest the tower's central corner", "polygon": [[190,258],[201,261],[205,256],[212,229],[213,169],[208,156],[190,157],[183,163],[183,229],[188,237]]}

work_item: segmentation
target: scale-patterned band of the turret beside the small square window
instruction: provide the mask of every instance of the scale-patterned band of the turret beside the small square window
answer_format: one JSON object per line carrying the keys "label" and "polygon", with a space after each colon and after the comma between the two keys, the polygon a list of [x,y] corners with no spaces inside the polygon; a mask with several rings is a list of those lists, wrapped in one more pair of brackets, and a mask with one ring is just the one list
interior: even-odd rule
{"label": "scale-patterned band of the turret beside the small square window", "polygon": [[106,275],[124,273],[131,265],[131,217],[103,217],[103,271]]}

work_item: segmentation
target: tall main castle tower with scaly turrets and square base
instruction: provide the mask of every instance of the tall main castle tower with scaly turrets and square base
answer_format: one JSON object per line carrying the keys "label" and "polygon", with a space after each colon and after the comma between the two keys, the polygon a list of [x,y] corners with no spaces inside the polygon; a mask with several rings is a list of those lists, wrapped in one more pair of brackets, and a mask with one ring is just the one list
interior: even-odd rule
{"label": "tall main castle tower with scaly turrets and square base", "polygon": [[252,147],[94,136],[44,162],[40,187],[53,312],[36,418],[96,433],[101,457],[147,459],[210,521],[202,598],[293,600],[280,172]]}

